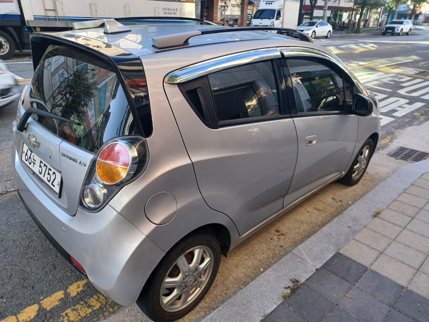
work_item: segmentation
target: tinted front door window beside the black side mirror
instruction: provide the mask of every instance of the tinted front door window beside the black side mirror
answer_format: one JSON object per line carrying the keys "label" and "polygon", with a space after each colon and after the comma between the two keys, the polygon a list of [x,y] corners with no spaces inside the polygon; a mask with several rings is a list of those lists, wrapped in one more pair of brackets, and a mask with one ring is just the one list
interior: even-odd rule
{"label": "tinted front door window beside the black side mirror", "polygon": [[342,109],[343,80],[337,73],[311,60],[290,59],[287,64],[299,113]]}

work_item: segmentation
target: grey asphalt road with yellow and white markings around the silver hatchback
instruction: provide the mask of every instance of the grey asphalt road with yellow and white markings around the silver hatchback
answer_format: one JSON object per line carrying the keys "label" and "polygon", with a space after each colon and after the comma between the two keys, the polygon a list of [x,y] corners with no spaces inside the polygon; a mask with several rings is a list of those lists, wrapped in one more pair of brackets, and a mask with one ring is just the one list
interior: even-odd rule
{"label": "grey asphalt road with yellow and white markings around the silver hatchback", "polygon": [[[427,120],[428,27],[415,30],[410,36],[340,37],[334,33],[331,39],[315,42],[345,61],[381,102],[383,126],[379,149],[386,149],[400,130]],[[19,81],[22,90],[33,74],[30,57],[19,55],[7,63],[9,70],[22,79]],[[119,306],[100,295],[56,252],[30,219],[15,191],[10,153],[16,106],[17,101],[0,108],[0,149],[3,151],[0,154],[0,322],[84,322],[108,316]],[[335,185],[329,189],[335,189]],[[314,198],[321,196],[317,194]],[[311,201],[300,207],[306,207],[307,202]],[[311,229],[314,232],[318,227],[310,228],[310,234]],[[262,238],[263,234],[250,237],[246,243]],[[233,256],[239,256],[239,252]],[[280,254],[283,255],[279,252],[278,256]],[[201,314],[207,315],[209,311],[206,309]]]}

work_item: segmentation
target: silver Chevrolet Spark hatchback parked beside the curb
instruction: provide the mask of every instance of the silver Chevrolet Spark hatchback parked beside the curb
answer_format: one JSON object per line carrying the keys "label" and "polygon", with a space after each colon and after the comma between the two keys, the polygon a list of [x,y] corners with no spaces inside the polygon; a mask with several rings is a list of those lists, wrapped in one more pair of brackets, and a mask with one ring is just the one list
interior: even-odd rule
{"label": "silver Chevrolet Spark hatchback parked beside the curb", "polygon": [[359,182],[380,132],[375,97],[310,37],[189,22],[34,33],[13,127],[30,216],[154,321],[189,313],[221,254],[330,182]]}

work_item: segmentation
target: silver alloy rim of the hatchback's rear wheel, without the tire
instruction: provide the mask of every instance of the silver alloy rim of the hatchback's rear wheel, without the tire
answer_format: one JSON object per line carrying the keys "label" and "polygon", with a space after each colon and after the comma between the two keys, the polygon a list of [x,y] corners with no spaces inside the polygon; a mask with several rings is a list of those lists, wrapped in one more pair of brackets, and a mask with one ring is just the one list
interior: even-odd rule
{"label": "silver alloy rim of the hatchback's rear wheel, without the tire", "polygon": [[213,269],[213,253],[196,246],[172,265],[160,290],[161,307],[168,312],[183,309],[201,293]]}

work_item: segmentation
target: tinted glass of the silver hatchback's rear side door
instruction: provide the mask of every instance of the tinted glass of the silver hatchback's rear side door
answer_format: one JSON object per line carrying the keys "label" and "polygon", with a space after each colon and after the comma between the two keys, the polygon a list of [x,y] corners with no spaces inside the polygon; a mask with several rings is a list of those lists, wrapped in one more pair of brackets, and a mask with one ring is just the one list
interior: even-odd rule
{"label": "tinted glass of the silver hatchback's rear side door", "polygon": [[222,70],[208,76],[218,121],[279,114],[271,62]]}

